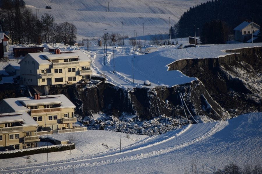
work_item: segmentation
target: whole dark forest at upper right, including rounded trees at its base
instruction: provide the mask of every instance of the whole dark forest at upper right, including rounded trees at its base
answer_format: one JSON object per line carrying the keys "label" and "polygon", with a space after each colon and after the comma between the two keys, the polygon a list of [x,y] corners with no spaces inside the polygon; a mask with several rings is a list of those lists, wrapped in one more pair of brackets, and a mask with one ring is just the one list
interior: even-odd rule
{"label": "whole dark forest at upper right, including rounded trees at its base", "polygon": [[170,28],[171,38],[195,36],[195,33],[197,37],[199,28],[203,44],[224,44],[234,35],[236,26],[252,19],[262,26],[261,0],[207,1],[183,13],[178,23]]}

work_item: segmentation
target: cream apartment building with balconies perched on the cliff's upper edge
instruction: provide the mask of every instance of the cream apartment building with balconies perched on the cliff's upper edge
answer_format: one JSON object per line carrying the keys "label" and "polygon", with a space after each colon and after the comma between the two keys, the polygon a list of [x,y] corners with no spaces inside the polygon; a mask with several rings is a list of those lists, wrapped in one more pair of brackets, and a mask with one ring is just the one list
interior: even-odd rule
{"label": "cream apartment building with balconies perched on the cliff's upper edge", "polygon": [[20,64],[20,79],[24,85],[58,85],[89,81],[91,60],[81,51],[55,54],[29,53]]}

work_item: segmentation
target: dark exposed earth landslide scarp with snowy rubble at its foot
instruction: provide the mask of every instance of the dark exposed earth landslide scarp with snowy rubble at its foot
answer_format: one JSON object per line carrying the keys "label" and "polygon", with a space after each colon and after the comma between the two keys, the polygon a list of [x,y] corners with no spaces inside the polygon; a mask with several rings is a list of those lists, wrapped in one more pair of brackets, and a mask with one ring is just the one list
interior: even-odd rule
{"label": "dark exposed earth landslide scarp with snowy rubble at its foot", "polygon": [[[199,79],[188,84],[125,90],[93,80],[89,84],[49,86],[49,95],[66,95],[77,106],[79,120],[90,121],[88,128],[147,135],[194,123],[190,113],[197,122],[206,122],[262,111],[262,48],[227,52],[235,54],[170,64],[169,70]],[[28,95],[17,84],[2,84],[0,88],[1,99]],[[184,111],[180,94],[190,113],[186,107]]]}

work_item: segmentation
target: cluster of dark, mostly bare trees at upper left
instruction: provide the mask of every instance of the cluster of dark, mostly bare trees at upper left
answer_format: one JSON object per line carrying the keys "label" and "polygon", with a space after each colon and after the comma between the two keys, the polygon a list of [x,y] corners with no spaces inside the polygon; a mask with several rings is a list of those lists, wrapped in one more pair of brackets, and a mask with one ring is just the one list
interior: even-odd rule
{"label": "cluster of dark, mostly bare trees at upper left", "polygon": [[77,28],[73,23],[55,23],[51,14],[37,17],[23,0],[0,0],[0,29],[9,32],[11,44],[64,43],[73,45]]}

